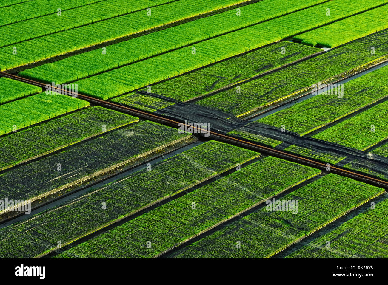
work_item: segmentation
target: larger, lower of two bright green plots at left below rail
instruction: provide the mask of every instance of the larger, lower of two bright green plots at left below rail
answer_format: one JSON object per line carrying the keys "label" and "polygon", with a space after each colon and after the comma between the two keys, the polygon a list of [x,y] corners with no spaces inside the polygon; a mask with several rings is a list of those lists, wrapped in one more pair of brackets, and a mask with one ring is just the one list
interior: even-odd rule
{"label": "larger, lower of two bright green plots at left below rail", "polygon": [[0,105],[0,135],[17,131],[36,123],[72,112],[89,102],[62,94],[33,96]]}

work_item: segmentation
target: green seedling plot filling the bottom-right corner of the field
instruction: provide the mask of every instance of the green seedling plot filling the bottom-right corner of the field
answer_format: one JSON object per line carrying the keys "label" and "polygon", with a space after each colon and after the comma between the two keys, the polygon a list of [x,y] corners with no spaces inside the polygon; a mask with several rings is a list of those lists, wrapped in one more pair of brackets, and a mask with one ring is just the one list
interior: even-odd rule
{"label": "green seedling plot filling the bottom-right corner of the field", "polygon": [[387,258],[387,210],[385,199],[375,209],[355,216],[286,258]]}

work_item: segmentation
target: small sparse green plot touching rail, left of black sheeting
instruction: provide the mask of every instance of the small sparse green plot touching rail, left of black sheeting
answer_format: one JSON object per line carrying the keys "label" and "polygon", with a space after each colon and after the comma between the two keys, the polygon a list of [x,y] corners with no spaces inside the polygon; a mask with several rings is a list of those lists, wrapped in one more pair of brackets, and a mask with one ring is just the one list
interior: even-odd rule
{"label": "small sparse green plot touching rail, left of black sheeting", "polygon": [[120,97],[113,98],[112,102],[119,103],[121,105],[127,105],[129,107],[134,107],[148,112],[154,112],[156,110],[163,109],[165,107],[175,104],[174,101],[169,101],[163,98],[158,98],[149,94],[142,93],[125,94]]}

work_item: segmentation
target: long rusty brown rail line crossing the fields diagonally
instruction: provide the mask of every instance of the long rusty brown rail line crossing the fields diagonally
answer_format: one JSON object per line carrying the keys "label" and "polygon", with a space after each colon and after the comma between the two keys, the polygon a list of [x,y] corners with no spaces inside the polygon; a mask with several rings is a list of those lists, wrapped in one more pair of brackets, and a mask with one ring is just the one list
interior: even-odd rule
{"label": "long rusty brown rail line crossing the fields diagonally", "polygon": [[[13,74],[9,74],[9,73],[5,73],[2,71],[0,71],[0,75],[7,77],[7,78],[15,79],[18,81],[22,81],[25,83],[29,83],[29,84],[32,84],[35,86],[42,87],[43,90],[46,89],[46,86],[47,86],[44,83],[33,81],[31,79],[22,78],[22,77],[19,77],[19,76],[13,75]],[[61,88],[56,88],[55,91],[63,92],[63,93],[68,92],[67,90],[63,90]],[[133,116],[137,116],[137,117],[140,117],[140,118],[146,119],[146,120],[156,121],[158,123],[165,124],[165,125],[171,126],[173,128],[178,128],[179,126],[187,126],[187,124],[185,124],[185,123],[174,121],[174,120],[162,117],[162,116],[157,116],[157,115],[149,113],[149,112],[144,112],[144,111],[132,109],[129,107],[121,106],[118,104],[114,104],[112,102],[107,102],[107,101],[93,98],[93,97],[90,97],[87,95],[82,95],[80,93],[75,93],[75,92],[68,92],[68,93],[70,93],[69,95],[76,96],[77,98],[82,98],[82,99],[87,100],[88,102],[94,103],[96,105],[105,106],[105,107],[108,107],[110,109],[115,109],[115,110],[118,110],[121,112],[126,112],[128,114],[133,115]],[[309,166],[323,169],[323,170],[327,170],[327,167],[328,167],[327,164],[324,164],[322,162],[315,161],[313,159],[308,159],[306,157],[302,157],[299,155],[291,154],[291,153],[288,153],[288,152],[285,152],[282,150],[272,149],[272,148],[266,147],[264,145],[259,145],[257,143],[249,142],[246,140],[241,140],[239,138],[234,138],[233,136],[223,135],[221,133],[217,133],[214,131],[204,130],[202,128],[198,128],[195,126],[193,128],[196,129],[198,133],[205,133],[205,132],[209,133],[210,136],[212,136],[212,138],[217,138],[220,141],[227,142],[227,143],[230,143],[233,145],[237,145],[240,147],[245,147],[245,148],[253,149],[253,150],[264,151],[270,155],[274,155],[274,156],[277,156],[277,157],[280,157],[283,159],[288,159],[291,161],[299,162],[302,164],[307,164]],[[381,180],[381,179],[378,179],[378,178],[375,178],[372,176],[368,176],[365,174],[357,173],[354,171],[350,171],[348,169],[341,168],[338,166],[329,165],[329,167],[330,167],[330,169],[329,169],[330,172],[340,174],[342,176],[350,177],[350,178],[353,178],[355,180],[367,182],[369,184],[376,185],[378,187],[384,188],[385,190],[388,190],[388,181]]]}

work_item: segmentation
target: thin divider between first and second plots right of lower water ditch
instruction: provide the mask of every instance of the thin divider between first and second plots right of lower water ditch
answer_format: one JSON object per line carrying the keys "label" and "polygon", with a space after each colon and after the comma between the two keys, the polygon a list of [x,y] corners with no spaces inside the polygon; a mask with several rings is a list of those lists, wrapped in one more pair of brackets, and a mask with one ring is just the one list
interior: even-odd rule
{"label": "thin divider between first and second plots right of lower water ditch", "polygon": [[[253,159],[256,159],[256,158],[258,158],[258,157],[261,157],[261,155],[260,155],[260,154],[254,155],[253,157],[251,157],[251,158],[249,158],[249,159],[246,159],[246,160],[244,160],[244,161],[242,161],[242,162],[239,162],[239,163],[242,165],[242,164],[245,164],[245,163],[247,163],[247,162],[249,162],[249,161],[251,161],[251,160],[253,160]],[[97,231],[99,231],[99,230],[102,230],[103,228],[106,228],[107,226],[111,226],[111,225],[114,225],[114,224],[116,224],[116,223],[119,223],[119,222],[122,221],[123,219],[130,218],[131,216],[133,216],[134,214],[137,214],[138,212],[144,211],[145,209],[148,209],[149,207],[152,207],[152,206],[154,206],[154,205],[157,205],[158,203],[163,202],[163,201],[165,201],[166,199],[170,199],[171,197],[173,197],[173,196],[175,196],[175,195],[178,195],[179,193],[181,193],[181,192],[183,192],[183,191],[185,191],[185,190],[188,190],[188,189],[190,189],[190,188],[194,188],[194,187],[196,187],[197,185],[199,185],[199,184],[201,184],[201,183],[203,183],[203,182],[205,182],[205,181],[211,180],[212,178],[215,178],[216,176],[218,176],[218,175],[220,175],[220,174],[222,174],[222,173],[225,173],[225,172],[227,172],[227,171],[229,171],[229,170],[231,170],[231,169],[233,169],[233,168],[235,168],[235,167],[236,167],[236,166],[233,165],[233,166],[230,166],[230,167],[228,167],[228,168],[222,169],[222,171],[219,171],[218,173],[215,173],[215,174],[213,174],[213,175],[211,175],[211,176],[208,176],[208,177],[206,177],[206,178],[204,178],[204,179],[202,179],[202,180],[199,180],[199,181],[194,182],[194,183],[192,183],[192,184],[190,184],[190,185],[187,185],[187,186],[185,186],[185,187],[183,187],[183,188],[180,188],[179,190],[175,191],[174,193],[172,193],[172,194],[170,194],[170,195],[167,195],[167,196],[165,196],[165,197],[163,197],[163,198],[161,198],[161,199],[158,199],[158,200],[156,200],[156,201],[154,201],[154,202],[151,202],[151,203],[149,203],[149,204],[147,204],[147,205],[145,205],[145,206],[143,206],[143,207],[141,207],[141,208],[139,208],[139,209],[136,209],[136,210],[134,210],[134,211],[132,211],[132,212],[130,212],[130,213],[124,215],[124,216],[121,216],[121,218],[118,218],[118,219],[116,219],[116,220],[114,220],[114,221],[110,221],[109,223],[106,223],[105,225],[102,225],[102,226],[100,226],[99,228],[97,228],[97,229],[95,229],[95,230],[89,231],[89,232],[86,233],[85,235],[82,235],[82,236],[80,236],[80,237],[74,238],[73,240],[71,240],[71,241],[66,242],[65,244],[63,244],[63,246],[72,244],[73,242],[75,242],[75,241],[77,241],[77,240],[80,240],[81,238],[88,237],[90,234],[95,233],[95,232],[97,232]],[[92,194],[92,193],[93,193],[93,192],[87,193],[87,194],[85,194],[85,195],[83,195],[83,196],[81,196],[81,197],[79,197],[79,198],[77,198],[77,199],[75,199],[75,200],[82,199],[83,197],[85,197],[85,196],[87,196],[87,195],[90,195],[90,194]],[[65,206],[66,206],[66,205],[65,205]],[[62,246],[62,247],[63,247],[63,246]],[[34,257],[34,258],[40,258],[40,257],[46,256],[47,254],[49,254],[49,253],[55,251],[56,249],[57,249],[56,247],[53,248],[53,249],[50,249],[49,251],[47,251],[47,252],[45,252],[45,253],[43,253],[43,254],[40,254],[39,256],[36,256],[36,257]]]}

